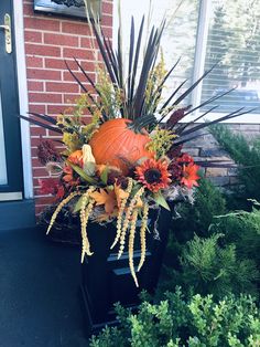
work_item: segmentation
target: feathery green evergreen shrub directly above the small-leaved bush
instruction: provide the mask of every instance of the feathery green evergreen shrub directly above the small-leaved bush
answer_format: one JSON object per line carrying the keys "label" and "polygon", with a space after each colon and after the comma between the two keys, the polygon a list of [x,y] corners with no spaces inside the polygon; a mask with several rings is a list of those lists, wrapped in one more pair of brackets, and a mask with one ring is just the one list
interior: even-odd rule
{"label": "feathery green evergreen shrub directly above the small-leaved bush", "polygon": [[185,293],[213,294],[214,298],[234,293],[257,296],[259,272],[256,262],[248,257],[239,259],[236,245],[220,245],[223,234],[207,239],[194,236],[181,251],[180,267],[167,267],[160,282],[158,296],[175,285]]}

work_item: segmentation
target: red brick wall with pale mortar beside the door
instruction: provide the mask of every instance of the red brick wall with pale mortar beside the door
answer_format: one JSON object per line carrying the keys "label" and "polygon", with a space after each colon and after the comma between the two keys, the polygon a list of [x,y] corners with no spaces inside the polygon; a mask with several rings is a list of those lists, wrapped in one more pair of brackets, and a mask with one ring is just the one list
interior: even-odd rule
{"label": "red brick wall with pale mortar beside the door", "polygon": [[[84,69],[94,73],[95,52],[91,50],[90,31],[86,22],[33,12],[33,1],[23,0],[24,40],[30,112],[57,115],[72,106],[79,94],[79,86],[66,71],[64,60],[77,71],[73,57]],[[101,24],[107,35],[112,35],[112,0],[102,0]],[[52,201],[39,193],[39,178],[48,175],[36,158],[36,146],[43,138],[55,138],[43,128],[31,126],[33,187],[36,213]]]}

